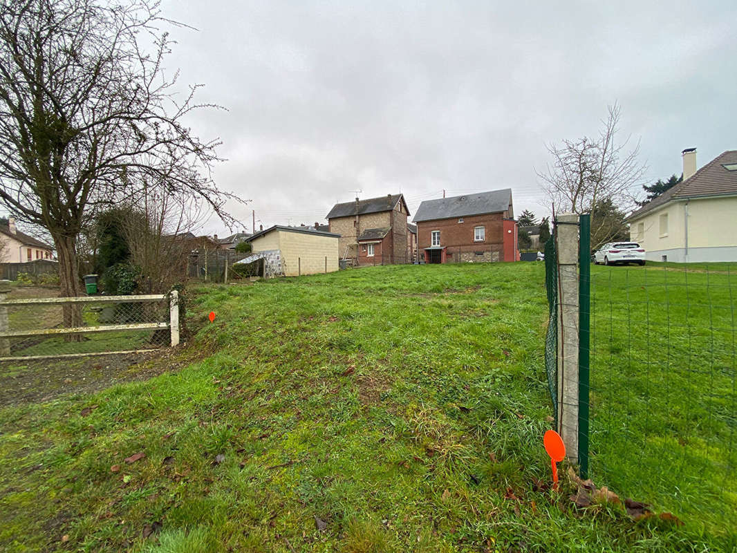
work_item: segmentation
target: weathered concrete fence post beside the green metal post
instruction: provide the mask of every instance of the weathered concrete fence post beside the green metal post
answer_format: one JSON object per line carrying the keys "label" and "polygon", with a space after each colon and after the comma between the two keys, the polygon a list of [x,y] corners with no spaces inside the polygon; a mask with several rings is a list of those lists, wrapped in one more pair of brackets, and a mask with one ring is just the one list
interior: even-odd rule
{"label": "weathered concrete fence post beside the green metal post", "polygon": [[558,433],[579,462],[579,216],[555,220],[558,250]]}

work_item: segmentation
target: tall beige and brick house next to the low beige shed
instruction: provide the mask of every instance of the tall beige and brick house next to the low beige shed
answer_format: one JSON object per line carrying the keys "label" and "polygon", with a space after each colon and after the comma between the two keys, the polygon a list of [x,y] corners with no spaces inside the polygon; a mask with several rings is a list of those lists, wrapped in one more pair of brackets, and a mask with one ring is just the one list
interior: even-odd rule
{"label": "tall beige and brick house next to the low beige shed", "polygon": [[401,194],[335,204],[329,232],[340,234],[338,257],[353,265],[394,265],[408,259],[409,209]]}

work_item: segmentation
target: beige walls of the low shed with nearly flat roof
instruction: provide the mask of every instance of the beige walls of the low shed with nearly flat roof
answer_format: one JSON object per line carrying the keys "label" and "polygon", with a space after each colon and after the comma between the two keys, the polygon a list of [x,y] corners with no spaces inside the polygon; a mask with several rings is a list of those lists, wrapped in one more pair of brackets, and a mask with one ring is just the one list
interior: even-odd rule
{"label": "beige walls of the low shed with nearly flat roof", "polygon": [[281,250],[287,277],[338,271],[338,238],[305,232],[275,230],[252,240],[254,251]]}

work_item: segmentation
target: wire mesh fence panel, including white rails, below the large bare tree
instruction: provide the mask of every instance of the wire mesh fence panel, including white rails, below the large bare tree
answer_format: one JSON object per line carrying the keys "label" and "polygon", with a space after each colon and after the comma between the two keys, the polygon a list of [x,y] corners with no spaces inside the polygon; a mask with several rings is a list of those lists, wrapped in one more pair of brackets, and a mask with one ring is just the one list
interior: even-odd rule
{"label": "wire mesh fence panel, including white rails, below the large bare tree", "polygon": [[22,295],[11,292],[0,299],[0,360],[126,352],[172,343],[168,295],[116,300],[91,296],[64,303],[50,291]]}

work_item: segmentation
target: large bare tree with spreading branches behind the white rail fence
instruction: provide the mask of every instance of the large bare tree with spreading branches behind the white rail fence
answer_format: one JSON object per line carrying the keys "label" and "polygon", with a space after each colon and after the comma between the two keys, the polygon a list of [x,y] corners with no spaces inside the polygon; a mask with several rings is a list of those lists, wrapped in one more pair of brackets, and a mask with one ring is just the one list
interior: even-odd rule
{"label": "large bare tree with spreading branches behind the white rail fence", "polygon": [[[0,0],[0,202],[54,240],[61,293],[82,293],[77,238],[97,209],[144,187],[198,198],[229,223],[209,176],[217,142],[184,119],[198,105],[177,74],[159,4]],[[152,44],[145,52],[143,44]],[[80,313],[65,311],[65,323]]]}

